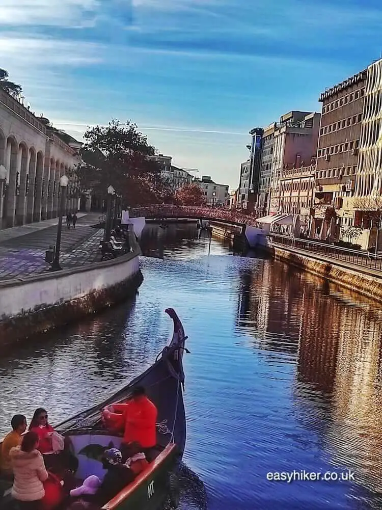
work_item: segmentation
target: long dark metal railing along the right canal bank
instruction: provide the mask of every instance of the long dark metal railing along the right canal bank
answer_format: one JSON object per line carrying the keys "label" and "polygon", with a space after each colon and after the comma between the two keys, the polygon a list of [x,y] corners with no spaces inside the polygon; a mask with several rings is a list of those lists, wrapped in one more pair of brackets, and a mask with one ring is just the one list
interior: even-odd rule
{"label": "long dark metal railing along the right canal bank", "polygon": [[365,250],[352,250],[333,244],[312,241],[311,239],[296,239],[280,234],[273,234],[272,232],[269,234],[269,239],[272,244],[313,252],[330,259],[348,262],[375,271],[382,271],[382,257]]}

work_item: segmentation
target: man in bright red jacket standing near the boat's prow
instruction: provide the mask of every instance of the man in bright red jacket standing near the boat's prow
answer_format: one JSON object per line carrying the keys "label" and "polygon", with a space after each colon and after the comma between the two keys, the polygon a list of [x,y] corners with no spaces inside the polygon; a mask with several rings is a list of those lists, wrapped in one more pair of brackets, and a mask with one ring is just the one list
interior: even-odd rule
{"label": "man in bright red jacket standing near the boat's prow", "polygon": [[134,388],[127,402],[109,405],[103,411],[108,428],[118,429],[124,424],[123,443],[139,443],[146,451],[157,444],[157,416],[157,407],[147,398],[142,386]]}

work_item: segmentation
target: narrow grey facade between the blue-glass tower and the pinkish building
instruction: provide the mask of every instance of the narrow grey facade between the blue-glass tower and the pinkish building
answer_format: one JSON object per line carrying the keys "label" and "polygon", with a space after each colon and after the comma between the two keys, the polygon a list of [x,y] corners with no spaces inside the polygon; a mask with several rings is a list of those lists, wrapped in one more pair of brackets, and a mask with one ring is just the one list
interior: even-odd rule
{"label": "narrow grey facade between the blue-glass tower and the pinkish building", "polygon": [[263,133],[263,150],[260,163],[259,190],[256,202],[256,211],[258,216],[262,216],[268,211],[275,126],[276,124],[273,122],[273,124],[270,124],[264,129]]}

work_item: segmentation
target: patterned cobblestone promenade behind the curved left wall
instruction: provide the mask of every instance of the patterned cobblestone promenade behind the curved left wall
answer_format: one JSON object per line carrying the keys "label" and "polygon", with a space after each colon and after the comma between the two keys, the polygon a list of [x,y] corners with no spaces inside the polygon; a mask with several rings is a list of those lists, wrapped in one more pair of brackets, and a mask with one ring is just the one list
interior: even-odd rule
{"label": "patterned cobblestone promenade behind the curved left wall", "polygon": [[[78,215],[75,228],[62,227],[61,257],[63,268],[100,260],[99,240],[104,231],[94,228],[99,214]],[[40,221],[0,231],[0,281],[45,272],[45,251],[56,244],[58,219]],[[92,226],[93,225],[93,226]]]}

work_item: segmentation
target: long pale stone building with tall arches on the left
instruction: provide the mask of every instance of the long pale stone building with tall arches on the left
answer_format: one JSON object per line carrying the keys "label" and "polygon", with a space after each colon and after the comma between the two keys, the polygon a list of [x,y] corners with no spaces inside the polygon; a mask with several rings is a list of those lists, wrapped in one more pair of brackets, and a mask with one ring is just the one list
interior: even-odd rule
{"label": "long pale stone building with tall arches on the left", "polygon": [[2,228],[56,217],[64,173],[69,176],[65,213],[78,211],[80,189],[73,170],[81,161],[79,142],[65,142],[63,132],[49,127],[46,120],[0,90]]}

